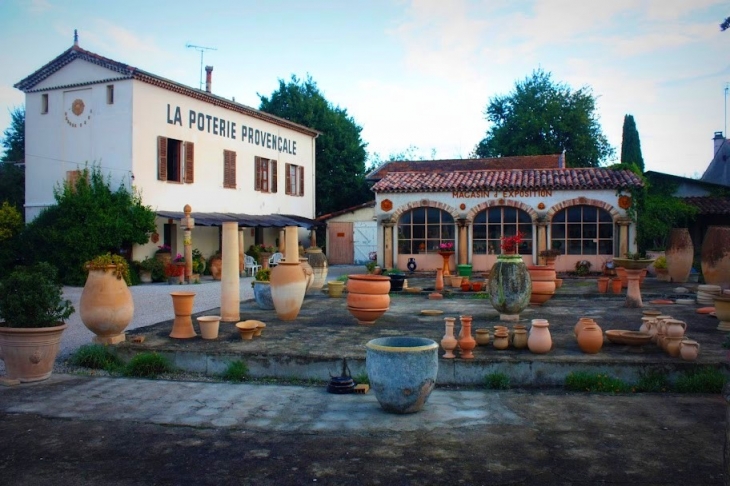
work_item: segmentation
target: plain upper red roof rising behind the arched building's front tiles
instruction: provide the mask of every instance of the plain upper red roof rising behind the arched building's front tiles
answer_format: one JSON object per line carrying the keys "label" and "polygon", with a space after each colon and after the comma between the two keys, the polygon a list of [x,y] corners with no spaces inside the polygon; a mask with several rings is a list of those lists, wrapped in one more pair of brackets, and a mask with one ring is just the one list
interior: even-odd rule
{"label": "plain upper red roof rising behind the arched building's front tiles", "polygon": [[397,160],[385,162],[367,175],[379,180],[392,172],[443,172],[455,170],[557,169],[561,154],[493,157],[488,159]]}

